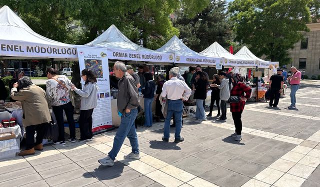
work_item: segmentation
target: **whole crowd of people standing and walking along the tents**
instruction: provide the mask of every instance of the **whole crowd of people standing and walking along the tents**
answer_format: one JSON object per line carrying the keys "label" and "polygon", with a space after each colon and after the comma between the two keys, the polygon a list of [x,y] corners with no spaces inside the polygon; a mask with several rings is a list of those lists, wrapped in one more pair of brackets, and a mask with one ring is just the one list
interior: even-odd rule
{"label": "whole crowd of people standing and walking along the tents", "polygon": [[[170,121],[173,118],[175,127],[174,142],[182,142],[184,138],[180,136],[183,120],[183,102],[195,100],[196,111],[195,120],[203,121],[207,117],[212,117],[213,105],[217,106],[217,120],[226,120],[226,104],[229,102],[235,132],[231,134],[235,141],[242,139],[241,114],[244,110],[245,102],[251,95],[251,88],[245,84],[245,78],[239,73],[220,71],[212,76],[209,82],[208,74],[202,71],[201,66],[189,67],[189,71],[181,75],[178,67],[169,70],[165,80],[163,75],[158,75],[155,85],[153,76],[149,72],[143,72],[143,67],[139,67],[139,72],[135,73],[133,67],[117,61],[113,66],[113,72],[118,78],[119,88],[117,95],[117,113],[121,118],[120,126],[114,137],[113,146],[108,156],[98,162],[104,166],[113,166],[125,137],[130,140],[131,153],[124,156],[125,159],[139,159],[138,140],[134,120],[139,107],[139,90],[143,94],[145,120],[142,127],[151,127],[153,116],[151,106],[155,102],[156,120],[164,119],[164,131],[162,141],[169,141]],[[285,80],[291,85],[291,105],[288,108],[295,108],[295,92],[299,87],[301,72],[295,67],[291,67],[292,75]],[[20,152],[20,156],[32,155],[35,150],[43,150],[42,138],[48,123],[52,117],[49,109],[52,109],[52,116],[56,119],[58,126],[58,139],[53,142],[56,145],[64,145],[64,120],[63,111],[66,115],[69,127],[68,141],[76,142],[75,124],[73,120],[73,105],[71,102],[71,91],[81,96],[79,128],[79,142],[92,140],[92,112],[97,105],[96,92],[99,89],[96,84],[96,76],[92,71],[84,69],[81,71],[81,78],[84,81],[82,89],[76,88],[64,75],[58,75],[58,71],[47,68],[46,91],[34,85],[31,80],[18,75],[17,82],[12,84],[11,99],[22,101],[23,126],[26,131],[26,148]],[[283,86],[282,70],[278,69],[277,74],[270,78],[271,99],[269,106],[277,107],[278,96]],[[211,90],[211,102],[209,113],[205,113],[205,99],[208,89]],[[166,99],[167,109],[163,113],[163,101]],[[214,116],[214,115],[213,115]],[[199,122],[200,123],[200,122]],[[36,131],[36,141],[34,133]]]}

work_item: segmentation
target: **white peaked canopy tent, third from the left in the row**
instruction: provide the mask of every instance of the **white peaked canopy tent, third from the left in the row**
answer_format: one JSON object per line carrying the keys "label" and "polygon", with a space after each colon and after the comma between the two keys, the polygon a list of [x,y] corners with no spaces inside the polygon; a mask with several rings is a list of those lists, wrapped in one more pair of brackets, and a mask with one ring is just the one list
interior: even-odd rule
{"label": "white peaked canopy tent, third from the left in the row", "polygon": [[166,42],[162,47],[156,49],[159,52],[174,53],[174,63],[182,64],[201,64],[201,65],[215,65],[216,62],[222,63],[221,57],[210,57],[197,53],[188,48],[175,35]]}

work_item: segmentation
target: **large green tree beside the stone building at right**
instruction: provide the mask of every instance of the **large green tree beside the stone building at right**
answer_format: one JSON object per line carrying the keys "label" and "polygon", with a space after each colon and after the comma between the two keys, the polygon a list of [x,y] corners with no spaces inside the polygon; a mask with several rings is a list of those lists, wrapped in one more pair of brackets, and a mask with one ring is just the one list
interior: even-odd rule
{"label": "large green tree beside the stone building at right", "polygon": [[308,31],[311,0],[234,0],[229,6],[235,40],[256,56],[287,64],[288,49]]}

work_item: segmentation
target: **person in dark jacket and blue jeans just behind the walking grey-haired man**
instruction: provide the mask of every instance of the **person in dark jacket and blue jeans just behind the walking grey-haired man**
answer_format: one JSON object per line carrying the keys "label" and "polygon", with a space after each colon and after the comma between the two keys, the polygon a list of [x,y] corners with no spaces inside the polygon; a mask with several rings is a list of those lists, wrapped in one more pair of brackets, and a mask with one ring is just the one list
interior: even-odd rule
{"label": "person in dark jacket and blue jeans just behind the walking grey-haired man", "polygon": [[144,98],[144,125],[142,127],[149,128],[152,126],[152,101],[154,98],[154,90],[155,90],[155,84],[152,81],[152,74],[149,72],[145,72],[143,74],[145,78],[145,86],[141,89],[141,93],[143,94]]}

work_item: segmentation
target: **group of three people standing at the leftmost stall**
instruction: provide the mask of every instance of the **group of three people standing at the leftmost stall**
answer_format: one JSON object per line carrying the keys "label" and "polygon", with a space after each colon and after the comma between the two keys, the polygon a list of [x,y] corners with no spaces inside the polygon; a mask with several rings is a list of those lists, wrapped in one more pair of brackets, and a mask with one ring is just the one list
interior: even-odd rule
{"label": "group of three people standing at the leftmost stall", "polygon": [[[12,84],[10,97],[22,102],[22,123],[26,132],[26,147],[24,151],[19,153],[19,156],[33,155],[35,150],[43,150],[42,139],[46,128],[52,121],[52,116],[55,117],[58,126],[58,138],[53,144],[65,144],[63,111],[69,125],[70,137],[68,141],[76,142],[73,106],[70,98],[71,90],[81,96],[80,138],[78,141],[92,140],[92,112],[97,104],[96,91],[98,90],[96,76],[90,70],[82,70],[81,77],[85,84],[80,90],[66,76],[58,75],[57,72],[57,69],[47,68],[46,91],[33,84],[29,77],[23,75]],[[52,109],[52,116],[49,109]],[[35,131],[36,141],[34,142]]]}

